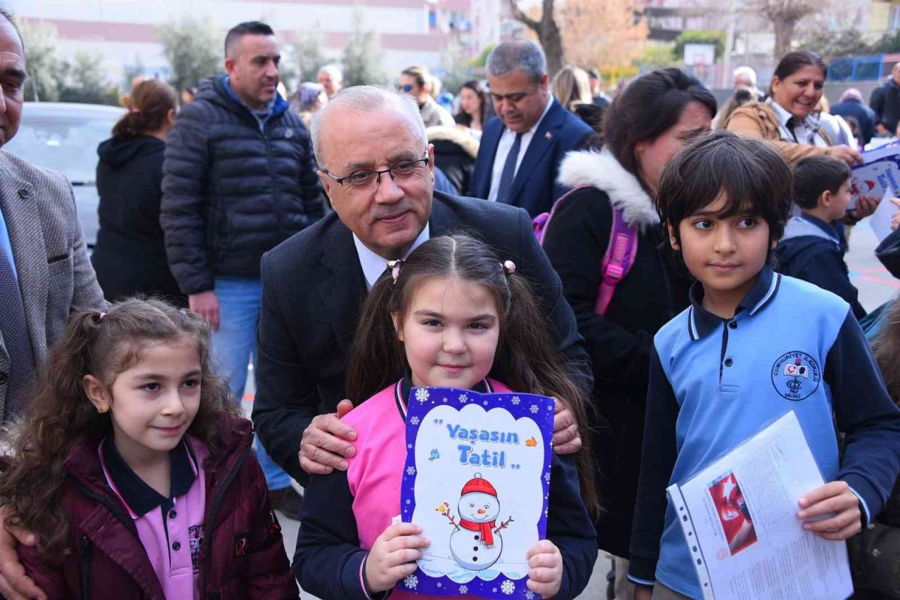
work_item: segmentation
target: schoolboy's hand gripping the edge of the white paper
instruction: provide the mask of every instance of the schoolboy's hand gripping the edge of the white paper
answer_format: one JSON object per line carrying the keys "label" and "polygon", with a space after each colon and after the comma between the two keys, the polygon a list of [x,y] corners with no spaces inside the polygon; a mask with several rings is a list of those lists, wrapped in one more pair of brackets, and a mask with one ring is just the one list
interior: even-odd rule
{"label": "schoolboy's hand gripping the edge of the white paper", "polygon": [[[862,531],[860,498],[846,481],[816,487],[803,495],[798,504],[797,517],[804,521],[803,528],[824,540],[847,540]],[[833,516],[815,520],[828,514]]]}

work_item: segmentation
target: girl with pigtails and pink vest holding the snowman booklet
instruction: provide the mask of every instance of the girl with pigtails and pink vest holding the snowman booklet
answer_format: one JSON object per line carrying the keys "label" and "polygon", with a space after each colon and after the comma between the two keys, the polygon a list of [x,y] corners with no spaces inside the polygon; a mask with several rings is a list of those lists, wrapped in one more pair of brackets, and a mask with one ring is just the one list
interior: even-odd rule
{"label": "girl with pigtails and pink vest holding the snowman booklet", "polygon": [[[358,432],[347,471],[311,479],[301,510],[293,569],[301,586],[327,599],[426,598],[394,586],[416,569],[429,541],[415,523],[395,523],[406,459],[406,399],[413,386],[453,386],[580,398],[526,280],[465,235],[432,238],[365,300],[347,373],[350,399],[368,398],[344,418]],[[504,384],[488,378],[494,367]],[[572,403],[579,423],[584,409]],[[585,436],[582,435],[582,438]],[[582,450],[580,460],[590,460]],[[590,464],[581,473],[590,476]],[[597,541],[582,502],[596,505],[590,477],[554,455],[547,539],[527,553],[527,586],[545,598],[573,598],[588,584]],[[464,597],[472,597],[465,595]]]}

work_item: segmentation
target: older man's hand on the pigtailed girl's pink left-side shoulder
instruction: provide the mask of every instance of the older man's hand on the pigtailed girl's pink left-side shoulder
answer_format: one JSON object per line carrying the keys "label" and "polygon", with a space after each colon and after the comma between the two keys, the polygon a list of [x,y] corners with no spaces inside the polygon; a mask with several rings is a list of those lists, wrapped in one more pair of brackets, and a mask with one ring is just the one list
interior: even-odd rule
{"label": "older man's hand on the pigtailed girl's pink left-side shoulder", "polygon": [[300,468],[310,475],[328,475],[334,469],[347,470],[347,458],[356,452],[352,442],[356,430],[341,423],[341,418],[353,410],[353,403],[341,400],[338,412],[320,414],[303,431],[300,441]]}

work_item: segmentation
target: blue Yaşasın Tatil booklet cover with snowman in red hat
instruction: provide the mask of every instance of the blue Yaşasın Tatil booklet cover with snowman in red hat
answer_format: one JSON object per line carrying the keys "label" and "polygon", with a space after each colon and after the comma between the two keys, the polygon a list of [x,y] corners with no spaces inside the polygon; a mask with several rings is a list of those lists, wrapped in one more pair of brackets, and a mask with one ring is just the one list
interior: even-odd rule
{"label": "blue Ya\u015fas\u0131n Tatil booklet cover with snowman in red hat", "polygon": [[546,534],[554,401],[415,387],[407,406],[401,519],[431,546],[397,588],[537,598],[526,552]]}

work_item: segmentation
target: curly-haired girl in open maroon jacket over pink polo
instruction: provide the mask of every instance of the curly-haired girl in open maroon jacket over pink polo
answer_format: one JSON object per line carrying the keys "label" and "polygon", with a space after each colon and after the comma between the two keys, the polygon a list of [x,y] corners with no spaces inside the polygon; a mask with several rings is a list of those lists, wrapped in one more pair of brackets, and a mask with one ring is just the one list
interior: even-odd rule
{"label": "curly-haired girl in open maroon jacket over pink polo", "polygon": [[157,300],[72,316],[0,478],[49,598],[297,598],[253,432],[202,317]]}

